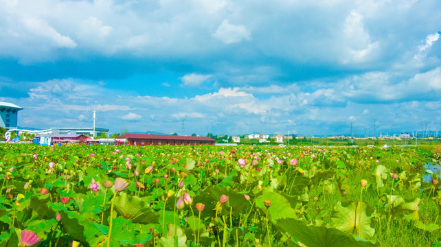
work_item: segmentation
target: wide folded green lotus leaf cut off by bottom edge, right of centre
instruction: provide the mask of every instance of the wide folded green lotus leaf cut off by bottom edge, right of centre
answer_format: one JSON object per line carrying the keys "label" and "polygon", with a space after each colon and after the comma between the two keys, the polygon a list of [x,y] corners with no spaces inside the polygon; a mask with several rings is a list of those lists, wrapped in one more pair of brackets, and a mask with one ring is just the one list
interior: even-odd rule
{"label": "wide folded green lotus leaf cut off by bottom edge, right of centre", "polygon": [[[271,205],[272,207],[272,205]],[[272,215],[271,215],[272,216]],[[335,228],[324,226],[306,226],[302,220],[293,218],[280,218],[275,221],[275,226],[297,239],[304,246],[314,247],[372,247],[370,242],[357,241]]]}

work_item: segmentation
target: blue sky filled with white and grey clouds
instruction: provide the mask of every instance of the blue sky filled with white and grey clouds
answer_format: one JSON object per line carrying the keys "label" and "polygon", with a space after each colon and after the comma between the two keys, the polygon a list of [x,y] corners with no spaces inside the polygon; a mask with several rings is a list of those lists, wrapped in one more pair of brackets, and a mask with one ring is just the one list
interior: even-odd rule
{"label": "blue sky filled with white and grey clouds", "polygon": [[0,0],[19,126],[441,130],[441,1]]}

